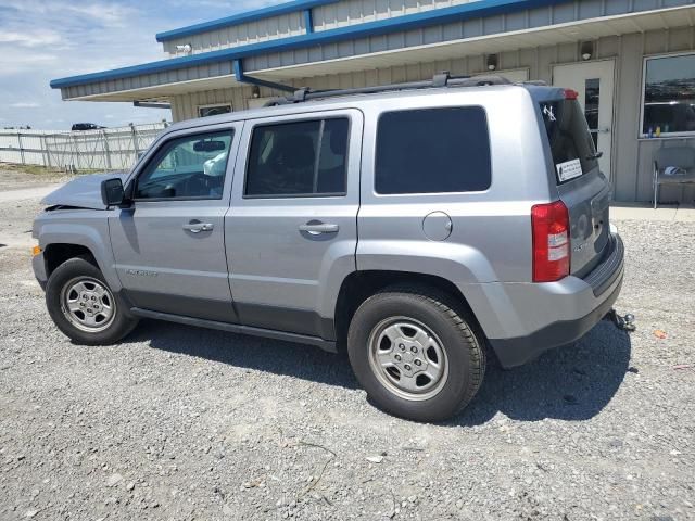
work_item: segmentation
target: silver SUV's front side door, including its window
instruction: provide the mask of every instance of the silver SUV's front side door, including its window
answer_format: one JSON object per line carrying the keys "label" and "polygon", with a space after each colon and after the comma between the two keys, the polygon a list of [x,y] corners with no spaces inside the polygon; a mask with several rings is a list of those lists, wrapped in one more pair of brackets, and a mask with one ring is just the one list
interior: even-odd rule
{"label": "silver SUV's front side door, including its window", "polygon": [[135,306],[236,321],[224,217],[240,130],[178,132],[148,154],[130,181],[134,202],[109,227],[116,271]]}

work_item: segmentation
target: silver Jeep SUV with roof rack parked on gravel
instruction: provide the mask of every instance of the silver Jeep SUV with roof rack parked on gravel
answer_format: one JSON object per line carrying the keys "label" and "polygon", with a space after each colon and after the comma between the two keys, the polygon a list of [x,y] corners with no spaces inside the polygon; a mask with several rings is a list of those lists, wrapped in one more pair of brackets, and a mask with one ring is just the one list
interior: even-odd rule
{"label": "silver Jeep SUV with roof rack parked on gravel", "polygon": [[623,246],[571,90],[451,78],[176,124],[129,174],[49,195],[55,325],[155,318],[346,350],[384,410],[438,421],[611,308]]}

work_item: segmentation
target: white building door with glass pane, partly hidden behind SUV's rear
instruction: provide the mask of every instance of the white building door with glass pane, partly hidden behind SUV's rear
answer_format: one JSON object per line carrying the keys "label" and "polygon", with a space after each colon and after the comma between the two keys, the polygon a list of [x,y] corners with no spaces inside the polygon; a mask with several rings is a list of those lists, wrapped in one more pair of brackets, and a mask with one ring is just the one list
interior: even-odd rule
{"label": "white building door with glass pane, partly hidden behind SUV's rear", "polygon": [[553,85],[576,90],[578,100],[594,145],[603,156],[598,160],[601,171],[610,177],[610,148],[612,143],[612,97],[614,97],[612,60],[571,63],[553,67]]}

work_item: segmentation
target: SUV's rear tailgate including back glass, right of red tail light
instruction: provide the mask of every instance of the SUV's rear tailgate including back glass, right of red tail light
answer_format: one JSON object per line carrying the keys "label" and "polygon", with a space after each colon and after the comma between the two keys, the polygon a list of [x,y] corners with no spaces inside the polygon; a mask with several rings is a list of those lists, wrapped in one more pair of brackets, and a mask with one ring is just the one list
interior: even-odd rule
{"label": "SUV's rear tailgate including back glass, right of red tail light", "polygon": [[[565,91],[559,91],[565,92]],[[610,232],[610,190],[601,173],[594,140],[576,96],[540,102],[553,161],[553,178],[569,211],[572,275],[582,277],[598,264]]]}

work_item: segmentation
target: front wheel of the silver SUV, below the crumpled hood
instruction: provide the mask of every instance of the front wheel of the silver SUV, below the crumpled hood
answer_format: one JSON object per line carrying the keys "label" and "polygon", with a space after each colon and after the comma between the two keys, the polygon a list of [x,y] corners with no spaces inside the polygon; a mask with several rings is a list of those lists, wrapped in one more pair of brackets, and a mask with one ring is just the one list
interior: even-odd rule
{"label": "front wheel of the silver SUV, below the crumpled hood", "polygon": [[81,257],[66,260],[51,274],[46,305],[55,326],[78,344],[113,344],[138,323],[99,268]]}

